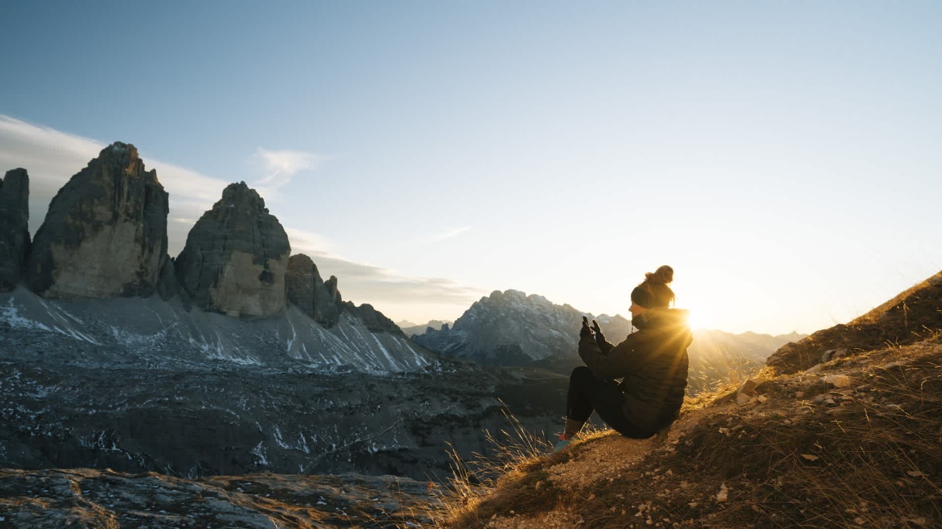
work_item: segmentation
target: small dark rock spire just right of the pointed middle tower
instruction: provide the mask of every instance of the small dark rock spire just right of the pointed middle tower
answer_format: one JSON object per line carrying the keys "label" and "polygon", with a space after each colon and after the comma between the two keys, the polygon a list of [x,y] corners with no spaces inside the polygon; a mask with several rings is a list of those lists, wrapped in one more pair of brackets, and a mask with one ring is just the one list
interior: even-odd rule
{"label": "small dark rock spire just right of the pointed middle tower", "polygon": [[340,319],[341,298],[337,292],[337,278],[325,283],[317,272],[317,264],[310,257],[299,253],[288,259],[288,301],[324,327],[331,328]]}

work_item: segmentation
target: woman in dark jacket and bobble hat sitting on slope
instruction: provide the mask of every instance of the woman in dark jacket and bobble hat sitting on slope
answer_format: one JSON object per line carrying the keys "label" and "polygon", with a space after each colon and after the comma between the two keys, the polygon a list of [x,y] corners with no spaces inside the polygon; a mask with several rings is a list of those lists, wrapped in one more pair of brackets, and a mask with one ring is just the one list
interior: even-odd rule
{"label": "woman in dark jacket and bobble hat sitting on slope", "polygon": [[[593,410],[620,434],[646,439],[670,425],[687,389],[688,311],[669,309],[674,269],[664,265],[645,274],[631,291],[631,324],[638,329],[611,345],[593,320],[579,332],[585,366],[573,370],[566,397],[566,427],[556,449],[569,444]],[[621,383],[615,379],[623,378]]]}

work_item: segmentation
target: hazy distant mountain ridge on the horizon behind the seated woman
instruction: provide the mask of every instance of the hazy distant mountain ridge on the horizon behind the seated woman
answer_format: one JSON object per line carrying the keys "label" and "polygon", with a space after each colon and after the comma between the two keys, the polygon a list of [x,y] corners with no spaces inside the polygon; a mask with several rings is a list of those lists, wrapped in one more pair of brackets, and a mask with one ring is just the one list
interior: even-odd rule
{"label": "hazy distant mountain ridge on the horizon behind the seated woman", "polygon": [[[531,365],[568,373],[581,364],[576,344],[583,315],[597,320],[613,344],[632,330],[631,321],[620,314],[582,313],[569,304],[507,290],[475,301],[450,329],[427,330],[412,339],[433,351],[485,365]],[[771,336],[699,329],[693,336],[689,349],[692,392],[737,375],[731,367],[757,369],[775,349],[804,338],[796,332]]]}

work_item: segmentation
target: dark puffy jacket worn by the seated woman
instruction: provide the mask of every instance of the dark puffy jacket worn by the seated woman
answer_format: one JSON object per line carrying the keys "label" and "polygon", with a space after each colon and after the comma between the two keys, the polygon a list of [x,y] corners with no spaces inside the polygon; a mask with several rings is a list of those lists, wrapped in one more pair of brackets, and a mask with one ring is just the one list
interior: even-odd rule
{"label": "dark puffy jacket worn by the seated woman", "polygon": [[654,435],[677,417],[687,389],[688,311],[658,309],[632,320],[639,330],[619,345],[584,333],[579,356],[599,378],[622,378],[622,408],[634,425]]}

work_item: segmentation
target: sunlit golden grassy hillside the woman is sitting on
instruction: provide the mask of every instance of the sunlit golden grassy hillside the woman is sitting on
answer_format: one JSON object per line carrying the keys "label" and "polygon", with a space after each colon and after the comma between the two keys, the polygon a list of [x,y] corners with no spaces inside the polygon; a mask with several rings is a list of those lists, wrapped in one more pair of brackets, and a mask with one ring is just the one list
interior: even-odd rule
{"label": "sunlit golden grassy hillside the woman is sitting on", "polygon": [[431,516],[455,528],[942,526],[940,277],[783,347],[754,390],[689,399],[650,440],[593,432],[547,455],[523,439],[496,467],[461,463]]}

